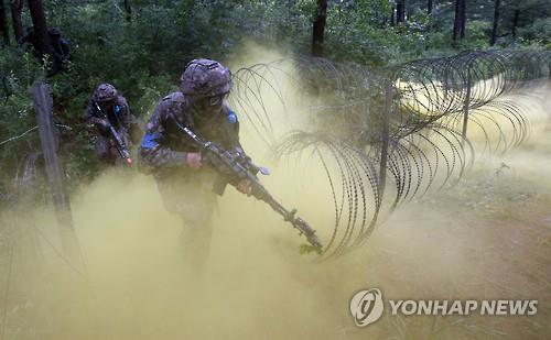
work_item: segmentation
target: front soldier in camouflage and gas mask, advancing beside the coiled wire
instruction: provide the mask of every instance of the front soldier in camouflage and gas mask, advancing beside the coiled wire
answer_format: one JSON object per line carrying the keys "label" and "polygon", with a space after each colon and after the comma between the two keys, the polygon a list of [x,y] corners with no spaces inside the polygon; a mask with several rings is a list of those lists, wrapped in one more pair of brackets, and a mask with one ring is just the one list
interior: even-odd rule
{"label": "front soldier in camouflage and gas mask, advancing beside the coiled wire", "polygon": [[[231,74],[222,64],[210,59],[188,63],[180,90],[156,105],[139,152],[141,166],[153,173],[166,209],[184,222],[184,251],[192,260],[202,261],[208,253],[216,174],[202,164],[199,151],[181,127],[226,150],[242,152],[239,122],[226,102],[230,89]],[[250,194],[250,184],[244,180],[238,189]]]}

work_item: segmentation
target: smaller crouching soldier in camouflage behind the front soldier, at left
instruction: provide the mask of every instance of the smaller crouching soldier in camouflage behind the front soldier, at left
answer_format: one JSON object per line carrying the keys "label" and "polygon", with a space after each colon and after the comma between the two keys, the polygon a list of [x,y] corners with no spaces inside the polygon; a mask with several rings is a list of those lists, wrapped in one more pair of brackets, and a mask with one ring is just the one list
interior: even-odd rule
{"label": "smaller crouching soldier in camouflage behind the front soldier, at left", "polygon": [[88,105],[88,121],[96,128],[96,154],[107,164],[114,165],[120,160],[109,134],[109,125],[115,128],[129,150],[132,140],[137,140],[136,118],[130,112],[127,99],[110,84],[101,84],[96,88]]}

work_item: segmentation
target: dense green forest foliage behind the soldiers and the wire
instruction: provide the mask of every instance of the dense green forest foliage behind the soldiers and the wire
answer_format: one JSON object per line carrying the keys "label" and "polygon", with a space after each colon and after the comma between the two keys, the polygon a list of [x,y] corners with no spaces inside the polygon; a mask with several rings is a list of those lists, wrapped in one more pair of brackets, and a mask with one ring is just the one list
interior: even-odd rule
{"label": "dense green forest foliage behind the soldiers and the wire", "polygon": [[[91,178],[100,168],[93,135],[85,125],[85,108],[94,88],[114,84],[133,113],[145,120],[155,102],[177,86],[184,65],[207,56],[223,62],[244,43],[310,54],[315,0],[179,0],[44,1],[51,28],[68,39],[72,62],[67,70],[47,79],[62,130],[61,151],[72,179]],[[550,44],[551,21],[545,0],[503,1],[498,44]],[[493,1],[467,3],[465,40],[453,44],[453,1],[407,1],[407,21],[392,24],[393,1],[328,1],[324,51],[329,58],[364,65],[387,65],[423,56],[488,47]],[[510,34],[517,17],[517,32]],[[25,26],[31,25],[23,11]],[[46,61],[47,64],[47,61]],[[22,48],[0,54],[0,142],[33,128],[30,88],[45,79],[44,61]],[[39,151],[36,131],[0,145],[0,171],[12,178],[21,158]]]}

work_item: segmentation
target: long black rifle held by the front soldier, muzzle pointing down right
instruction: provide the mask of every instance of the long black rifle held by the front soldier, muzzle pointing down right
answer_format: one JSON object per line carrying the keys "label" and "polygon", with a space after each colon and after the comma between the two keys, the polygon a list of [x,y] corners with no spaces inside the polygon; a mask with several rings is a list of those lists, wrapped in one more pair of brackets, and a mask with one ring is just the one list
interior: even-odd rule
{"label": "long black rifle held by the front soldier, muzzle pointing down right", "polygon": [[322,252],[322,244],[317,240],[315,230],[302,218],[296,217],[296,209],[288,210],[280,205],[270,193],[259,182],[257,174],[268,175],[267,168],[252,164],[252,160],[245,155],[242,150],[236,149],[230,152],[204,140],[190,128],[182,127],[175,119],[176,125],[182,130],[201,150],[202,158],[206,161],[219,175],[219,180],[214,185],[214,191],[222,196],[226,184],[237,186],[242,179],[248,179],[251,185],[251,196],[267,202],[276,212],[283,217],[285,222],[290,222],[300,234],[304,234],[311,245],[303,245],[301,252]]}

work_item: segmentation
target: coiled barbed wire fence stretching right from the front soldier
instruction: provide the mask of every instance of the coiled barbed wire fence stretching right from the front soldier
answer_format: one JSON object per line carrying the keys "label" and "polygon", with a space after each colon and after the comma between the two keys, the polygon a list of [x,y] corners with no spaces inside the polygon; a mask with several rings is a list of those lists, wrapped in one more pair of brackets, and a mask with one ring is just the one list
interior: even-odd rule
{"label": "coiled barbed wire fence stretching right from the front soldier", "polygon": [[[527,96],[550,76],[550,51],[464,52],[385,68],[292,58],[237,70],[230,99],[277,157],[318,157],[335,209],[331,257],[365,242],[385,207],[457,183],[475,160],[467,127],[482,132],[482,152],[526,141],[533,122],[507,95]],[[269,98],[292,122],[291,97],[312,103],[310,127],[278,133]]]}

